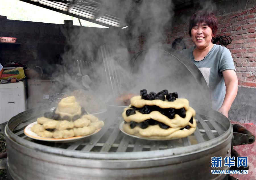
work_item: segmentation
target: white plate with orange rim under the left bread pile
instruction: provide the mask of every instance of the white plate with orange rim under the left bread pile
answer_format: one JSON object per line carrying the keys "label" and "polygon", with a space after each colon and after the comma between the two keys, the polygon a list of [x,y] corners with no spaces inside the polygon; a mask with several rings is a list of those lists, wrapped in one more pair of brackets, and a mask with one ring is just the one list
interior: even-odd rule
{"label": "white plate with orange rim under the left bread pile", "polygon": [[89,137],[91,135],[94,135],[96,133],[98,133],[100,131],[100,129],[97,129],[94,133],[86,135],[86,136],[75,136],[75,137],[68,137],[68,138],[53,138],[53,137],[40,137],[38,136],[36,133],[34,133],[33,131],[31,131],[31,127],[37,124],[37,122],[33,122],[29,125],[27,125],[24,129],[24,134],[32,139],[36,139],[36,140],[41,140],[41,141],[48,141],[48,142],[55,142],[55,143],[69,143],[72,141],[77,141],[79,139],[85,138],[85,137]]}

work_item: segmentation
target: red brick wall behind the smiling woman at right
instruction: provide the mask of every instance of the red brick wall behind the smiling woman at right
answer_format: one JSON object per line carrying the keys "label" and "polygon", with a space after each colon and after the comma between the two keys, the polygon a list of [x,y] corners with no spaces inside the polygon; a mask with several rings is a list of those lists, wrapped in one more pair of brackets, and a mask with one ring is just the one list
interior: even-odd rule
{"label": "red brick wall behind the smiling woman at right", "polygon": [[[215,1],[208,8],[214,8],[213,12],[218,18],[218,33],[224,29],[230,17],[245,12],[256,5],[255,1]],[[171,28],[165,28],[162,35],[162,42],[171,44],[174,39],[181,38],[186,48],[193,46],[191,37],[188,34],[190,16],[205,5],[176,11]],[[232,43],[227,48],[232,53],[237,70],[238,85],[245,87],[256,87],[256,9],[231,19],[228,27],[222,35],[230,36]],[[136,53],[143,49],[147,35],[142,34],[137,43],[130,49],[131,53]]]}

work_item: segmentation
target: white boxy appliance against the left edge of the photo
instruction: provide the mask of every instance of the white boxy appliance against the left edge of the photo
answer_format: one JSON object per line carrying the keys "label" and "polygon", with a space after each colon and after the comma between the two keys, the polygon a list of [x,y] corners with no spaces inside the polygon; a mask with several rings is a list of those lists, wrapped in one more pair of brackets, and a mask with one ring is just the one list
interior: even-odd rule
{"label": "white boxy appliance against the left edge of the photo", "polygon": [[26,110],[25,81],[0,84],[0,124]]}

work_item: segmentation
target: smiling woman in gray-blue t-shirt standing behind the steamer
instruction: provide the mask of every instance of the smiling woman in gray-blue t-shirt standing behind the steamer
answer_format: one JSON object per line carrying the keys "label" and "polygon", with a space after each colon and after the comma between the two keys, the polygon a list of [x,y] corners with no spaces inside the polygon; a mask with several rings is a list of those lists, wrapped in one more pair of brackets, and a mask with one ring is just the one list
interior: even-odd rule
{"label": "smiling woman in gray-blue t-shirt standing behind the steamer", "polygon": [[228,117],[228,111],[236,97],[238,79],[230,51],[212,43],[218,30],[214,13],[199,11],[189,22],[189,35],[195,46],[183,49],[203,74],[210,90],[212,108]]}

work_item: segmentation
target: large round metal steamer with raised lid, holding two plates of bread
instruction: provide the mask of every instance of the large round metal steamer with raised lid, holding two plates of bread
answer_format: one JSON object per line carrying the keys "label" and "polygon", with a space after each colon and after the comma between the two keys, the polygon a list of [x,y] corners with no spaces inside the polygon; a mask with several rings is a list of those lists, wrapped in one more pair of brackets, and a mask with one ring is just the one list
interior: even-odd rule
{"label": "large round metal steamer with raised lid, holding two plates of bread", "polygon": [[[144,57],[147,57],[147,52],[142,51],[131,59],[134,74]],[[211,174],[211,157],[230,156],[233,137],[230,121],[208,108],[211,106],[209,90],[193,63],[175,52],[151,52],[157,55],[150,55],[154,58],[167,58],[179,64],[177,70],[175,63],[171,63],[171,79],[175,80],[173,75],[177,74],[179,80],[185,80],[174,82],[171,87],[164,89],[170,88],[170,91],[178,92],[181,97],[190,95],[187,99],[195,109],[197,119],[196,131],[191,136],[150,141],[125,135],[119,129],[119,124],[123,121],[123,107],[115,105],[109,106],[107,112],[111,113],[101,116],[104,117],[104,127],[98,133],[79,141],[52,143],[30,139],[24,135],[26,125],[55,106],[50,104],[26,110],[8,122],[5,133],[9,178],[223,179],[224,175]],[[113,110],[118,113],[113,113]],[[222,168],[218,169],[225,168],[222,164]]]}

